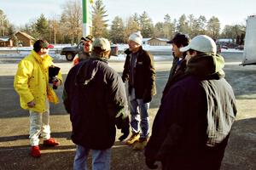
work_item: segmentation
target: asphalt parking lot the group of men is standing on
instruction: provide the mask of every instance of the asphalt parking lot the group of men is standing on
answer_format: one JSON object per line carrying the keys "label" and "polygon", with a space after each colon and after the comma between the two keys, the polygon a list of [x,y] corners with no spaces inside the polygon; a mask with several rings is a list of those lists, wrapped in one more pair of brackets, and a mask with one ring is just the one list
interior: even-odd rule
{"label": "asphalt parking lot the group of men is standing on", "polygon": [[[256,169],[256,65],[241,66],[241,53],[223,53],[226,79],[234,88],[238,114],[225,152],[222,170]],[[52,137],[61,144],[44,148],[38,159],[29,156],[28,112],[20,109],[19,96],[13,88],[14,75],[20,57],[0,56],[0,170],[2,169],[73,169],[75,146],[70,140],[71,124],[63,105],[51,105],[50,126]],[[71,63],[55,60],[66,78]],[[121,72],[123,61],[111,61],[110,65]],[[160,105],[161,91],[165,87],[171,68],[171,60],[155,61],[157,92],[150,104],[150,121]],[[57,89],[61,98],[62,89]],[[117,136],[119,137],[118,132]],[[117,138],[118,139],[118,138]],[[111,169],[148,169],[144,165],[143,151],[133,151],[116,141],[113,146]]]}

